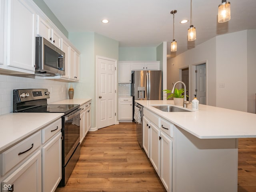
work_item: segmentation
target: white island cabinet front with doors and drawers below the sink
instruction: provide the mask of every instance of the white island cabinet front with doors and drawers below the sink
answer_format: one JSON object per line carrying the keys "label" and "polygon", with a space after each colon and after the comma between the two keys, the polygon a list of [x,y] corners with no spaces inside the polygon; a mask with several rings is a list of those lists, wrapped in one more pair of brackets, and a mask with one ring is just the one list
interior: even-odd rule
{"label": "white island cabinet front with doors and drawers below the sink", "polygon": [[172,192],[174,125],[147,109],[144,109],[143,112],[143,148],[167,192]]}

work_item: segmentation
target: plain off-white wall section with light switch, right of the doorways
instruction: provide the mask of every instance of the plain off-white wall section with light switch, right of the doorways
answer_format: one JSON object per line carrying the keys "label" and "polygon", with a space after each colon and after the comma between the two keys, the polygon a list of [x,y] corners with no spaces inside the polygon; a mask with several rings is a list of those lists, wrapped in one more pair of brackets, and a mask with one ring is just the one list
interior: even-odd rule
{"label": "plain off-white wall section with light switch, right of the doorways", "polygon": [[247,89],[247,30],[217,36],[216,106],[247,112]]}

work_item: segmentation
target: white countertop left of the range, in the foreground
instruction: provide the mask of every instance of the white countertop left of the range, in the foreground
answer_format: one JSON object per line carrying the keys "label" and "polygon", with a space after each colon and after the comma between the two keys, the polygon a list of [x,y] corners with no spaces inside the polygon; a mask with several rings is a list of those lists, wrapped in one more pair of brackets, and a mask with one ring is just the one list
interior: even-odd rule
{"label": "white countertop left of the range, in the foreground", "polygon": [[8,113],[0,115],[0,153],[59,119],[64,113]]}

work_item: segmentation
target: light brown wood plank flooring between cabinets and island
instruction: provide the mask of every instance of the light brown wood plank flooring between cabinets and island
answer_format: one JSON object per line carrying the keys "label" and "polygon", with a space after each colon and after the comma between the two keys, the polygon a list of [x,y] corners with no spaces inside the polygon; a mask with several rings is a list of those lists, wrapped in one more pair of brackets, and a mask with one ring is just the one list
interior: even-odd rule
{"label": "light brown wood plank flooring between cabinets and island", "polygon": [[[134,123],[88,132],[65,187],[56,192],[166,192]],[[256,139],[239,139],[238,192],[256,192]]]}

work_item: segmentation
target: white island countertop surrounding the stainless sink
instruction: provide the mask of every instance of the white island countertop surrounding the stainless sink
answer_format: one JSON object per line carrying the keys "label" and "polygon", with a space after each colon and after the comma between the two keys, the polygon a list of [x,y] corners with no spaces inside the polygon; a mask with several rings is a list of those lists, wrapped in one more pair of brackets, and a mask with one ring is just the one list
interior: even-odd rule
{"label": "white island countertop surrounding the stainless sink", "polygon": [[[256,138],[256,114],[202,104],[193,112],[162,112],[151,105],[173,105],[173,100],[135,102],[198,138]],[[192,110],[191,104],[187,109]]]}

